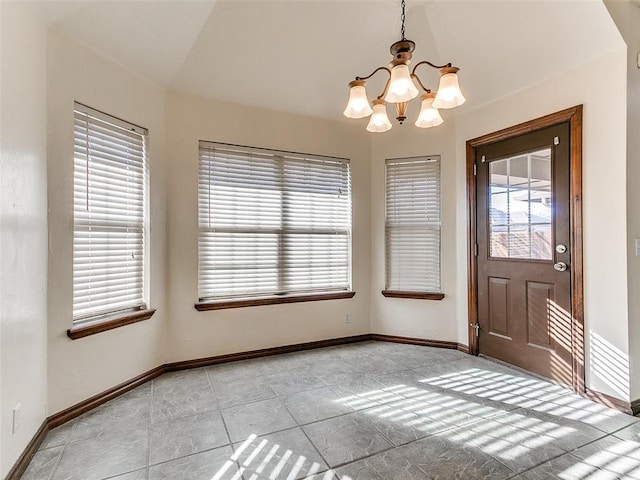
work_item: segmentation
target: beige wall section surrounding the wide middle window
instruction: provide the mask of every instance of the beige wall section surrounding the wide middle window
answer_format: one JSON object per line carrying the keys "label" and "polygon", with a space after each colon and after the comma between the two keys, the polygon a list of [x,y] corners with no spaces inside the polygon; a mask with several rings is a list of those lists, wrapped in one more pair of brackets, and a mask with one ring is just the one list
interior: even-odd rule
{"label": "beige wall section surrounding the wide middle window", "polygon": [[[169,318],[165,361],[369,332],[370,148],[353,126],[170,93]],[[198,140],[351,159],[355,297],[198,312]],[[351,324],[345,325],[345,314]]]}

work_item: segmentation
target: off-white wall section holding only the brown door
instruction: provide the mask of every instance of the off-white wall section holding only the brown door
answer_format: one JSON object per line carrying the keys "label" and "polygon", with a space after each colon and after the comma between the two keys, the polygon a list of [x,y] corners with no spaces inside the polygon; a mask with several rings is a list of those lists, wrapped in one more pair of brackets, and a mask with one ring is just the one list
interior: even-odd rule
{"label": "off-white wall section holding only the brown door", "polygon": [[[584,104],[583,225],[587,386],[629,400],[626,49],[466,113],[456,122],[457,257],[467,256],[465,142]],[[467,343],[467,267],[459,262],[458,341]],[[595,349],[594,349],[595,347]],[[595,351],[604,355],[595,360]],[[612,367],[615,367],[613,369]]]}

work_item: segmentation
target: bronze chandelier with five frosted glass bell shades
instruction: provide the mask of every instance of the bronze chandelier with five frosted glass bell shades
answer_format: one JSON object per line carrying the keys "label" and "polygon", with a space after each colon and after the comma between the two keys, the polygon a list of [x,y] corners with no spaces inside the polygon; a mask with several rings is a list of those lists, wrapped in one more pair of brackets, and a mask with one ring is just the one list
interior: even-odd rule
{"label": "bronze chandelier with five frosted glass bell shades", "polygon": [[[387,116],[387,103],[396,106],[396,119],[400,124],[406,120],[407,105],[410,100],[418,96],[420,91],[416,84],[424,91],[420,99],[422,105],[415,125],[420,128],[429,128],[440,125],[443,120],[438,109],[453,108],[462,105],[465,98],[458,86],[458,70],[450,63],[446,65],[434,65],[431,62],[422,61],[417,63],[413,70],[409,70],[411,56],[416,48],[415,42],[405,37],[405,0],[402,0],[402,39],[391,45],[390,51],[393,60],[388,67],[378,67],[367,77],[356,77],[349,83],[349,101],[344,110],[347,118],[364,118],[371,115],[367,130],[369,132],[386,132],[391,128],[391,122]],[[428,65],[440,70],[440,85],[437,93],[432,93],[424,86],[416,70],[421,65]],[[384,86],[382,93],[373,101],[373,108],[369,104],[365,86],[367,80],[380,71],[386,71],[389,79]]]}

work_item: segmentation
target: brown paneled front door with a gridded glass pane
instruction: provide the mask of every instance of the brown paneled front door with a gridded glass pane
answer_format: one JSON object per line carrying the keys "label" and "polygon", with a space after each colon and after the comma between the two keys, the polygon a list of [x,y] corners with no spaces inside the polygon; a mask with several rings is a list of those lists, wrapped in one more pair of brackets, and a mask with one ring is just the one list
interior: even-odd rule
{"label": "brown paneled front door with a gridded glass pane", "polygon": [[572,384],[570,126],[475,150],[479,353]]}

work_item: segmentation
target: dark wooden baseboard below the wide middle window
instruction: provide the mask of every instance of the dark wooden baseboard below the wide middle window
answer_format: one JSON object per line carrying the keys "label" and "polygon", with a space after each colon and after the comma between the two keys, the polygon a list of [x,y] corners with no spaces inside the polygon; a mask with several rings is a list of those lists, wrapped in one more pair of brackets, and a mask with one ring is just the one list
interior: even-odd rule
{"label": "dark wooden baseboard below the wide middle window", "polygon": [[167,372],[175,372],[178,370],[186,370],[189,368],[207,367],[209,365],[217,365],[219,363],[237,362],[238,360],[249,360],[251,358],[268,357],[271,355],[300,352],[303,350],[313,350],[315,348],[334,347],[336,345],[364,342],[367,340],[371,340],[371,335],[365,334],[355,335],[353,337],[331,338],[328,340],[318,340],[315,342],[297,343],[293,345],[284,345],[281,347],[262,348],[260,350],[250,350],[248,352],[229,353],[227,355],[216,355],[215,357],[205,357],[197,358],[195,360],[167,363],[165,364],[164,368]]}

